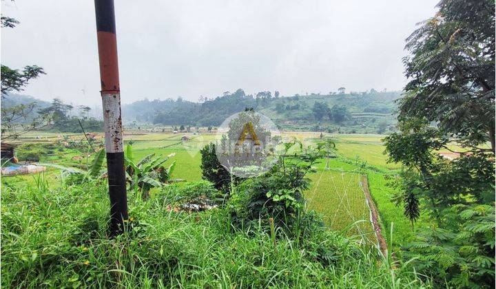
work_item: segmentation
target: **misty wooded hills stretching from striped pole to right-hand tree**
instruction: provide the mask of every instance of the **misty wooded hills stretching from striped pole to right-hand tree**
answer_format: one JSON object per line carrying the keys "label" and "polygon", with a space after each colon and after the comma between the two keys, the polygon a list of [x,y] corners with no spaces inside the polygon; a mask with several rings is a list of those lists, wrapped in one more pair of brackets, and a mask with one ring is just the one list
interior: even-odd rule
{"label": "misty wooded hills stretching from striped pole to right-hand tree", "polygon": [[[226,92],[203,103],[177,100],[139,100],[123,105],[124,121],[154,125],[218,126],[225,118],[253,107],[284,129],[330,132],[384,132],[393,129],[394,100],[401,92],[310,94],[279,96],[278,92]],[[318,114],[318,109],[324,111]]]}

